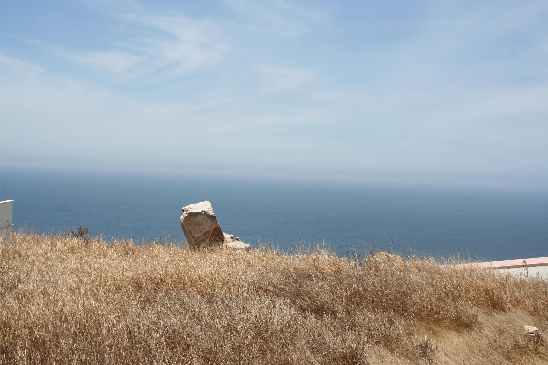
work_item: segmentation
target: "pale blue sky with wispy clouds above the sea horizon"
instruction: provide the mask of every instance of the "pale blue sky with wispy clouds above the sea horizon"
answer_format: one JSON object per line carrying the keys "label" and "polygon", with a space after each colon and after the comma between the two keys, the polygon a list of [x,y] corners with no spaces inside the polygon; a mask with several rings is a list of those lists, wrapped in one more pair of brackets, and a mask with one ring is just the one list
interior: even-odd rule
{"label": "pale blue sky with wispy clouds above the sea horizon", "polygon": [[0,166],[545,188],[548,1],[4,1]]}

